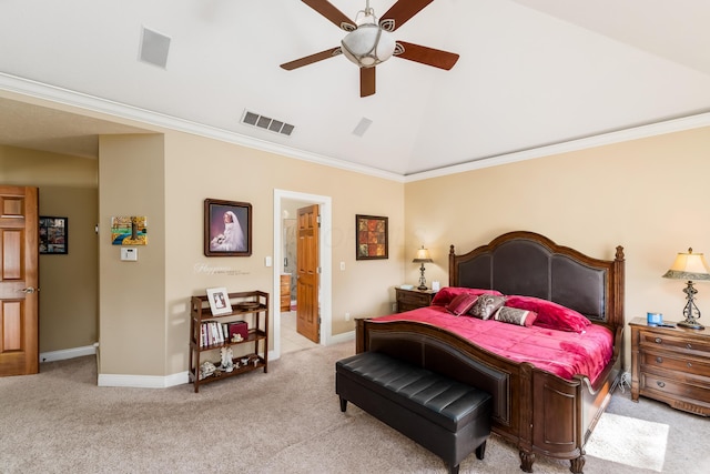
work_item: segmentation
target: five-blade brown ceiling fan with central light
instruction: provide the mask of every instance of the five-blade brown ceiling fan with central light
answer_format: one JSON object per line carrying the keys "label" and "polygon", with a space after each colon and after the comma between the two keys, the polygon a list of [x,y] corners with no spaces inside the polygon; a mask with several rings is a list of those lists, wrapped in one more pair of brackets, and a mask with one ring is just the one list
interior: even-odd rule
{"label": "five-blade brown ceiling fan with central light", "polygon": [[417,14],[434,0],[397,0],[381,19],[366,0],[365,10],[352,21],[327,0],[303,0],[305,4],[324,16],[347,34],[337,48],[331,48],[281,64],[287,71],[312,64],[339,54],[359,67],[359,97],[375,93],[375,67],[395,56],[422,64],[449,70],[458,54],[404,41],[395,41],[390,33]]}

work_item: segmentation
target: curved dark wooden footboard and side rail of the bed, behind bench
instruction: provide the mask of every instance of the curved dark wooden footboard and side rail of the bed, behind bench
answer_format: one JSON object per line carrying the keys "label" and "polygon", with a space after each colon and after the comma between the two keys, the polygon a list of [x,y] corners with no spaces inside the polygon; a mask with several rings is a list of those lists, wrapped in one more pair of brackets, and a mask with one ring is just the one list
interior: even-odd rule
{"label": "curved dark wooden footboard and side rail of the bed, behind bench", "polygon": [[384,352],[445,374],[493,396],[493,431],[520,452],[520,468],[532,472],[536,455],[570,460],[581,473],[584,446],[620,376],[620,335],[615,359],[591,386],[514,363],[439,327],[408,321],[358,320],[356,351]]}

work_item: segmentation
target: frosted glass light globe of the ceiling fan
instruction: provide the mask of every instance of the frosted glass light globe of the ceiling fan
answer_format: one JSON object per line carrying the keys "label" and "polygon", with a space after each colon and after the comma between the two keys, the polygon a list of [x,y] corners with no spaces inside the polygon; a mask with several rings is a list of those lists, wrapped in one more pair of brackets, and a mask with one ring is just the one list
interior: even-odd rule
{"label": "frosted glass light globe of the ceiling fan", "polygon": [[395,51],[395,40],[376,24],[364,23],[341,41],[343,54],[361,68],[372,68],[388,60]]}

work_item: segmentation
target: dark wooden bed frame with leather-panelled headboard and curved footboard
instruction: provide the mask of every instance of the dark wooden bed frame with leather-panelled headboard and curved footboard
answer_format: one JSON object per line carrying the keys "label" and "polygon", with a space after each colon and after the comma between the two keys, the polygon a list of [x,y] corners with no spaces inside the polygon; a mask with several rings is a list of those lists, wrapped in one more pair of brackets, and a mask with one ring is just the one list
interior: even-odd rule
{"label": "dark wooden bed frame with leather-panelled headboard and curved footboard", "polygon": [[592,384],[496,355],[439,327],[358,320],[356,351],[378,351],[468,383],[494,397],[493,431],[514,443],[520,468],[537,454],[570,460],[581,473],[585,444],[622,373],[623,249],[594,259],[532,232],[509,232],[468,253],[449,253],[449,286],[542,297],[576,310],[615,335],[613,355]]}

